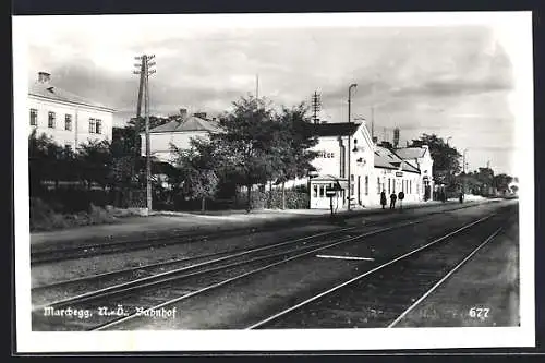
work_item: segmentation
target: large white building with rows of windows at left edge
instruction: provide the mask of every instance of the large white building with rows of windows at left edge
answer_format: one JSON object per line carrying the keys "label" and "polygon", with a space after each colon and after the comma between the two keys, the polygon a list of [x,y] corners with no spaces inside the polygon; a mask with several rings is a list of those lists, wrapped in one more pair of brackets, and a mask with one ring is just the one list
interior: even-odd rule
{"label": "large white building with rows of windows at left edge", "polygon": [[76,149],[89,141],[111,141],[112,108],[56,87],[39,72],[28,89],[28,134],[45,133],[60,146]]}

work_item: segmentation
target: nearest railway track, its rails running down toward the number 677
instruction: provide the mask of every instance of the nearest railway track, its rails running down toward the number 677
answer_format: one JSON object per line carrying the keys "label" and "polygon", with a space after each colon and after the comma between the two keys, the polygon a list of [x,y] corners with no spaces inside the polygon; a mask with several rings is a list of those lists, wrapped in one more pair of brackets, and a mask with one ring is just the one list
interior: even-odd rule
{"label": "nearest railway track, its rails running down toward the number 677", "polygon": [[497,215],[435,239],[246,329],[391,328],[498,235]]}

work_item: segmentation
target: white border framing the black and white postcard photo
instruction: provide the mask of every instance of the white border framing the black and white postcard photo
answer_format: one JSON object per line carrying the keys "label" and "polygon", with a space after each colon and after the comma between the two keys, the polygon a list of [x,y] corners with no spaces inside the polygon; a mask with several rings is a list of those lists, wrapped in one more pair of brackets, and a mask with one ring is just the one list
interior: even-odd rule
{"label": "white border framing the black and white postcard photo", "polygon": [[[111,20],[114,15],[100,16]],[[102,17],[104,16],[104,17]],[[121,15],[177,16],[177,15]],[[434,348],[534,347],[534,164],[533,60],[531,12],[479,13],[350,13],[350,14],[230,14],[182,15],[187,26],[214,24],[266,26],[444,26],[488,25],[508,28],[508,49],[517,92],[510,98],[517,116],[520,170],[520,317],[516,328],[393,328],[354,330],[206,330],[36,332],[31,328],[29,208],[27,168],[27,48],[25,24],[32,16],[13,17],[14,64],[14,213],[17,352],[137,352],[137,351],[296,351],[390,350]],[[278,19],[281,17],[281,22]],[[133,19],[134,20],[134,19]],[[508,48],[509,48],[508,47]],[[128,59],[128,69],[131,68]]]}

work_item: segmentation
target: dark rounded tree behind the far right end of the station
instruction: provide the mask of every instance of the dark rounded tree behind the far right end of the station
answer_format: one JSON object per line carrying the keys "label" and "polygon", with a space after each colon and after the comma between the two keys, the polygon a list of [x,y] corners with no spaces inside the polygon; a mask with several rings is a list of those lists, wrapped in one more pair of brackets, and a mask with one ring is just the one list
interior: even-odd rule
{"label": "dark rounded tree behind the far right end of the station", "polygon": [[429,147],[429,154],[434,159],[434,180],[447,185],[455,185],[455,174],[461,170],[459,160],[461,154],[435,134],[428,135],[424,133],[420,138],[413,140],[409,147],[421,147],[423,145]]}

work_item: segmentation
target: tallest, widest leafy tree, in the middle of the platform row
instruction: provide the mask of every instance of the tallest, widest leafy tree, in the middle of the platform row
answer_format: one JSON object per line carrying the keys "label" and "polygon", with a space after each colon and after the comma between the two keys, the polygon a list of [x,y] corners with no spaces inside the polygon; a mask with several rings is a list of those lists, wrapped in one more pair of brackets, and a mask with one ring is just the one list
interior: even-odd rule
{"label": "tallest, widest leafy tree, in the middle of the platform row", "polygon": [[211,136],[222,159],[222,173],[247,189],[247,211],[252,207],[252,186],[271,180],[280,166],[275,117],[264,99],[242,97],[220,117],[221,132]]}

